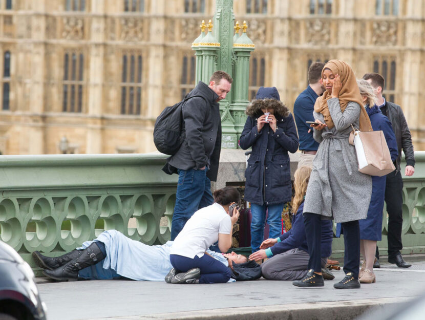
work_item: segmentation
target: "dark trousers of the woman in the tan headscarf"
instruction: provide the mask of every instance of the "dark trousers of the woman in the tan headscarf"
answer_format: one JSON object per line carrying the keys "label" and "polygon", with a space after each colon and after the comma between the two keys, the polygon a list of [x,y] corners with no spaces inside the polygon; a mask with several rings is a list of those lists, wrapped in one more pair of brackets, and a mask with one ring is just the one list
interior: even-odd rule
{"label": "dark trousers of the woman in the tan headscarf", "polygon": [[[306,229],[307,246],[310,254],[308,269],[321,272],[321,245],[322,226],[321,216],[304,212],[304,226]],[[354,278],[358,279],[360,260],[360,228],[358,220],[343,222],[341,224],[344,232],[344,272],[352,272]]]}

